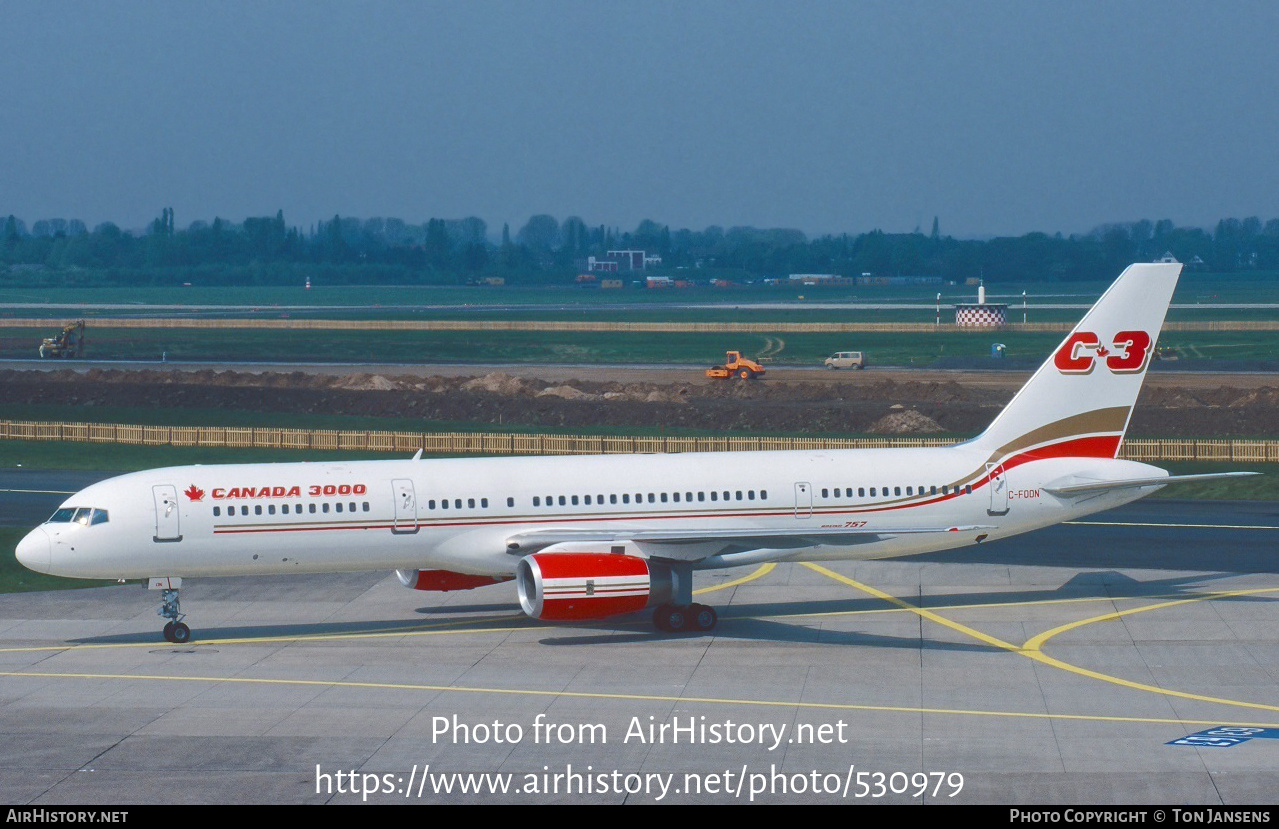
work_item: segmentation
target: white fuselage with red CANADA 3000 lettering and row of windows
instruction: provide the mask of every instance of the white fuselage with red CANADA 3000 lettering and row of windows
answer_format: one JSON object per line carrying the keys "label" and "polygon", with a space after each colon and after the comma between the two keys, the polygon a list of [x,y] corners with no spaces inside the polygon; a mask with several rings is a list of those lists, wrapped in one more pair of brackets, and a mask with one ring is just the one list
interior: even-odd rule
{"label": "white fuselage with red CANADA 3000 lettering and row of windows", "polygon": [[[838,527],[863,532],[865,541],[764,545],[737,559],[718,557],[711,544],[688,558],[698,567],[881,558],[1026,532],[1156,489],[1063,498],[1044,489],[1051,481],[1161,473],[1068,457],[991,473],[987,461],[959,444],[170,467],[77,493],[23,539],[18,558],[36,571],[88,578],[382,568],[505,577],[533,551],[513,549],[518,533],[615,530],[624,539]],[[648,554],[643,545],[627,551]]]}

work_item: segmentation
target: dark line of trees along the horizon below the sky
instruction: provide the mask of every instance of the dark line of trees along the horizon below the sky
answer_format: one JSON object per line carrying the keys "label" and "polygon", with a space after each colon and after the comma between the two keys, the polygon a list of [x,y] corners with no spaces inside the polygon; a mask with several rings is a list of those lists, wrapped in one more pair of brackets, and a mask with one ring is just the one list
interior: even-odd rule
{"label": "dark line of trees along the horizon below the sky", "polygon": [[[514,234],[467,219],[334,216],[310,228],[274,216],[192,221],[178,229],[164,209],[145,230],[43,219],[29,228],[0,220],[0,284],[464,284],[570,283],[588,257],[643,249],[661,257],[654,272],[762,279],[788,274],[939,276],[962,281],[1109,279],[1134,261],[1165,255],[1214,272],[1279,270],[1279,219],[1223,219],[1211,232],[1170,220],[1108,224],[1085,234],[957,239],[940,233],[871,230],[810,238],[793,229],[671,230],[643,220],[634,230],[537,215]],[[622,274],[625,278],[625,274]]]}

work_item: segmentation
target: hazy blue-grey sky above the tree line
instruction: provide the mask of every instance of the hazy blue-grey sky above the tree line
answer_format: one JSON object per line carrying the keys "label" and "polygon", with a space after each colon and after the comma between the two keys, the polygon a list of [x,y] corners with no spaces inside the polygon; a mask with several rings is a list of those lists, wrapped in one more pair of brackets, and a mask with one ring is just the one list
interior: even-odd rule
{"label": "hazy blue-grey sky above the tree line", "polygon": [[1279,216],[1279,3],[0,1],[0,214]]}

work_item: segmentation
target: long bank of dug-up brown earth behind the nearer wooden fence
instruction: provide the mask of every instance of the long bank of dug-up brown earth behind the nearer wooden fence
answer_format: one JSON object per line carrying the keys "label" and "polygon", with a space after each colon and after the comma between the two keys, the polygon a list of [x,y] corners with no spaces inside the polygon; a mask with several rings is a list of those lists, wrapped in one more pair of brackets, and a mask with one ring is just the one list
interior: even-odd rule
{"label": "long bank of dug-up brown earth behind the nearer wooden fence", "polygon": [[[491,372],[468,376],[381,374],[73,370],[0,371],[12,404],[313,412],[528,426],[688,427],[730,432],[971,435],[1008,402],[1007,388],[946,381],[826,384],[620,383],[555,384]],[[270,389],[269,394],[263,394]],[[1279,389],[1149,388],[1133,435],[1279,435]]]}

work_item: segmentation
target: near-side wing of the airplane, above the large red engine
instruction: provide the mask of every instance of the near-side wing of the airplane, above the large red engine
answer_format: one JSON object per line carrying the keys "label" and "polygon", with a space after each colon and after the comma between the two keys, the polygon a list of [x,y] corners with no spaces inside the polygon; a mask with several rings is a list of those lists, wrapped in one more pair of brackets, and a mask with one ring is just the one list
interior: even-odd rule
{"label": "near-side wing of the airplane, above the large red engine", "polygon": [[641,530],[641,528],[583,528],[583,530],[527,530],[506,539],[506,549],[517,555],[537,553],[547,548],[581,549],[579,545],[634,545],[651,558],[678,562],[698,562],[715,555],[748,550],[789,550],[817,545],[853,546],[871,544],[899,535],[926,532],[964,532],[989,530],[984,526],[963,527],[811,527],[811,528],[698,528],[698,530]]}

